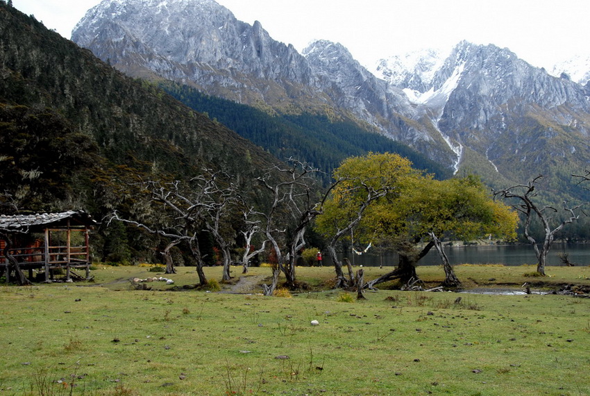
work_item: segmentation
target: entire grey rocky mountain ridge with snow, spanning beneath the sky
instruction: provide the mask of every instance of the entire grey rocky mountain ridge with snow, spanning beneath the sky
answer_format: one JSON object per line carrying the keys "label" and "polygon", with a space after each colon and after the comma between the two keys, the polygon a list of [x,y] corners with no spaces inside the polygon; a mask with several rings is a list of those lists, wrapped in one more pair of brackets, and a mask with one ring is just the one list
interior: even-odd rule
{"label": "entire grey rocky mountain ridge with snow, spanning beneath the sky", "polygon": [[443,62],[426,53],[405,69],[384,62],[375,76],[340,44],[319,40],[299,54],[213,0],[105,0],[72,40],[131,76],[270,113],[351,115],[492,185],[563,177],[590,159],[589,90],[494,45],[461,42]]}

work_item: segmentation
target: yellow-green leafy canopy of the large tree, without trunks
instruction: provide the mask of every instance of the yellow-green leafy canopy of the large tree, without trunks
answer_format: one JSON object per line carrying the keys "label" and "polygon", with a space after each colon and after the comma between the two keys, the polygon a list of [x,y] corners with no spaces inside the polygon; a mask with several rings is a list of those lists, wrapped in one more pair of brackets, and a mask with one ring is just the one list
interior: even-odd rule
{"label": "yellow-green leafy canopy of the large tree, without trunks", "polygon": [[396,154],[369,154],[348,158],[335,171],[346,178],[334,190],[318,219],[325,235],[353,217],[366,190],[387,188],[387,194],[366,208],[355,238],[418,243],[434,232],[440,238],[470,239],[488,235],[516,237],[516,213],[496,202],[474,176],[438,181],[411,167]]}

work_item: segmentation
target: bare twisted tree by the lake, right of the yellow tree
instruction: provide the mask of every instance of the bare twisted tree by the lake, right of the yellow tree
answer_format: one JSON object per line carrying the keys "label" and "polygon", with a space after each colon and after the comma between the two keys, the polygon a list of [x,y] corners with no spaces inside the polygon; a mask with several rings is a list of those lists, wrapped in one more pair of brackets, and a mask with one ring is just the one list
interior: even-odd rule
{"label": "bare twisted tree by the lake, right of the yellow tree", "polygon": [[[522,213],[525,217],[524,234],[525,238],[530,242],[534,248],[534,254],[537,255],[537,272],[545,276],[545,265],[547,261],[547,254],[551,248],[551,243],[555,238],[555,234],[561,231],[566,224],[570,224],[580,217],[575,211],[578,211],[582,205],[569,207],[568,203],[564,201],[564,212],[568,213],[568,216],[559,225],[553,227],[551,222],[553,215],[557,213],[557,209],[553,206],[541,206],[534,202],[534,198],[537,197],[538,192],[535,190],[537,181],[541,179],[543,175],[539,175],[529,181],[527,184],[513,185],[512,187],[505,188],[504,190],[494,191],[494,197],[500,197],[502,199],[515,198],[519,200],[519,204],[514,204],[512,207]],[[530,235],[530,224],[533,217],[537,217],[543,225],[543,243],[538,244],[537,240]],[[540,247],[539,247],[540,245]]]}

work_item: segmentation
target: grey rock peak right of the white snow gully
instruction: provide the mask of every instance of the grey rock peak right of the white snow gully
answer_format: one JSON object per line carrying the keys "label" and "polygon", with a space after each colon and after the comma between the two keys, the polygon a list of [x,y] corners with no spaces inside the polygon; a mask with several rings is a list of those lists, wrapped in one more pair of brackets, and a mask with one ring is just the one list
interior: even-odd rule
{"label": "grey rock peak right of the white snow gully", "polygon": [[[503,172],[514,171],[514,160],[527,160],[519,156],[523,151],[539,152],[537,166],[546,172],[541,152],[564,157],[575,146],[578,154],[589,152],[590,106],[580,85],[556,79],[508,49],[467,42],[437,71],[432,89],[441,89],[453,76],[456,86],[440,115],[439,130]],[[564,130],[574,124],[573,135]],[[566,148],[557,147],[562,145]]]}

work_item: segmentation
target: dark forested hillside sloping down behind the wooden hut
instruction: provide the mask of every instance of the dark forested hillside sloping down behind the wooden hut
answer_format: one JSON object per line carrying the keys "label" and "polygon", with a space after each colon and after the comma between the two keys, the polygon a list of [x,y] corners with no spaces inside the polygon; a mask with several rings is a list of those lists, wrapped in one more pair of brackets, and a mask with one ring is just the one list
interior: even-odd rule
{"label": "dark forested hillside sloping down behind the wooden hut", "polygon": [[[276,158],[219,122],[3,2],[0,43],[0,185],[10,208],[85,209],[101,221],[114,209],[140,211],[137,182],[189,179],[204,168],[235,176],[260,199],[254,177]],[[152,248],[101,226],[99,257],[121,248],[100,242],[109,233],[122,249]]]}

